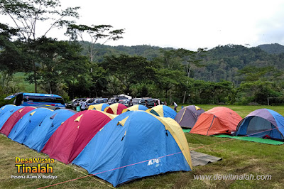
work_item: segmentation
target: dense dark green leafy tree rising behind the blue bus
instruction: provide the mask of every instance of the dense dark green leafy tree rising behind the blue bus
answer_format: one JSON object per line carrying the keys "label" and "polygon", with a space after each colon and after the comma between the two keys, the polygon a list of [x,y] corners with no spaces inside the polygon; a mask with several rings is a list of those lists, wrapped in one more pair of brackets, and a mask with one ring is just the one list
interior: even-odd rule
{"label": "dense dark green leafy tree rising behind the blue bus", "polygon": [[[39,58],[38,71],[39,83],[45,86],[45,89],[50,93],[58,93],[58,86],[63,83],[68,74],[66,70],[69,68],[74,69],[75,58],[77,60],[77,67],[80,64],[80,70],[74,69],[73,78],[80,75],[81,72],[87,70],[87,59],[80,54],[80,45],[75,45],[67,41],[56,41],[53,38],[39,38],[35,41],[35,53]],[[69,76],[70,77],[70,76]],[[31,80],[32,82],[33,80]]]}

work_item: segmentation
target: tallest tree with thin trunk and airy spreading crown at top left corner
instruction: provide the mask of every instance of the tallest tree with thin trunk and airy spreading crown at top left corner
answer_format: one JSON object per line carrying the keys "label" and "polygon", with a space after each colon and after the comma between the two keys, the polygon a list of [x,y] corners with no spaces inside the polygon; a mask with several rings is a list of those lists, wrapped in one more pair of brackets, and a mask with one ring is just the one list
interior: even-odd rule
{"label": "tallest tree with thin trunk and airy spreading crown at top left corner", "polygon": [[[26,69],[33,72],[35,92],[37,92],[38,62],[33,49],[36,38],[46,36],[53,28],[62,28],[74,21],[69,18],[79,18],[79,7],[67,8],[59,11],[58,0],[2,0],[0,1],[0,13],[11,18],[13,27],[18,30],[18,39],[26,44]],[[48,23],[50,26],[39,34],[38,23]],[[45,24],[45,26],[47,26]]]}

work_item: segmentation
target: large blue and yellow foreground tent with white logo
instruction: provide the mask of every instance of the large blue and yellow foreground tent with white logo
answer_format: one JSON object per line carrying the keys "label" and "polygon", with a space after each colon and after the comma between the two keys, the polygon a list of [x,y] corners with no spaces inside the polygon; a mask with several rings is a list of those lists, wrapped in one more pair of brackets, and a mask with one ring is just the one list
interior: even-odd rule
{"label": "large blue and yellow foreground tent with white logo", "polygon": [[119,185],[170,171],[191,171],[190,149],[180,125],[145,111],[109,121],[72,162]]}

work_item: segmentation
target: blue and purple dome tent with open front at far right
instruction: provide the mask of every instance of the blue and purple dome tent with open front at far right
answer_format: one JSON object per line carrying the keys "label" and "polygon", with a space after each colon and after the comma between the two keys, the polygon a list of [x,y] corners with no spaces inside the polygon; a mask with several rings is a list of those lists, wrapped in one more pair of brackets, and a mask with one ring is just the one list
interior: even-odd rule
{"label": "blue and purple dome tent with open front at far right", "polygon": [[239,122],[235,135],[284,140],[284,117],[271,109],[256,109]]}

